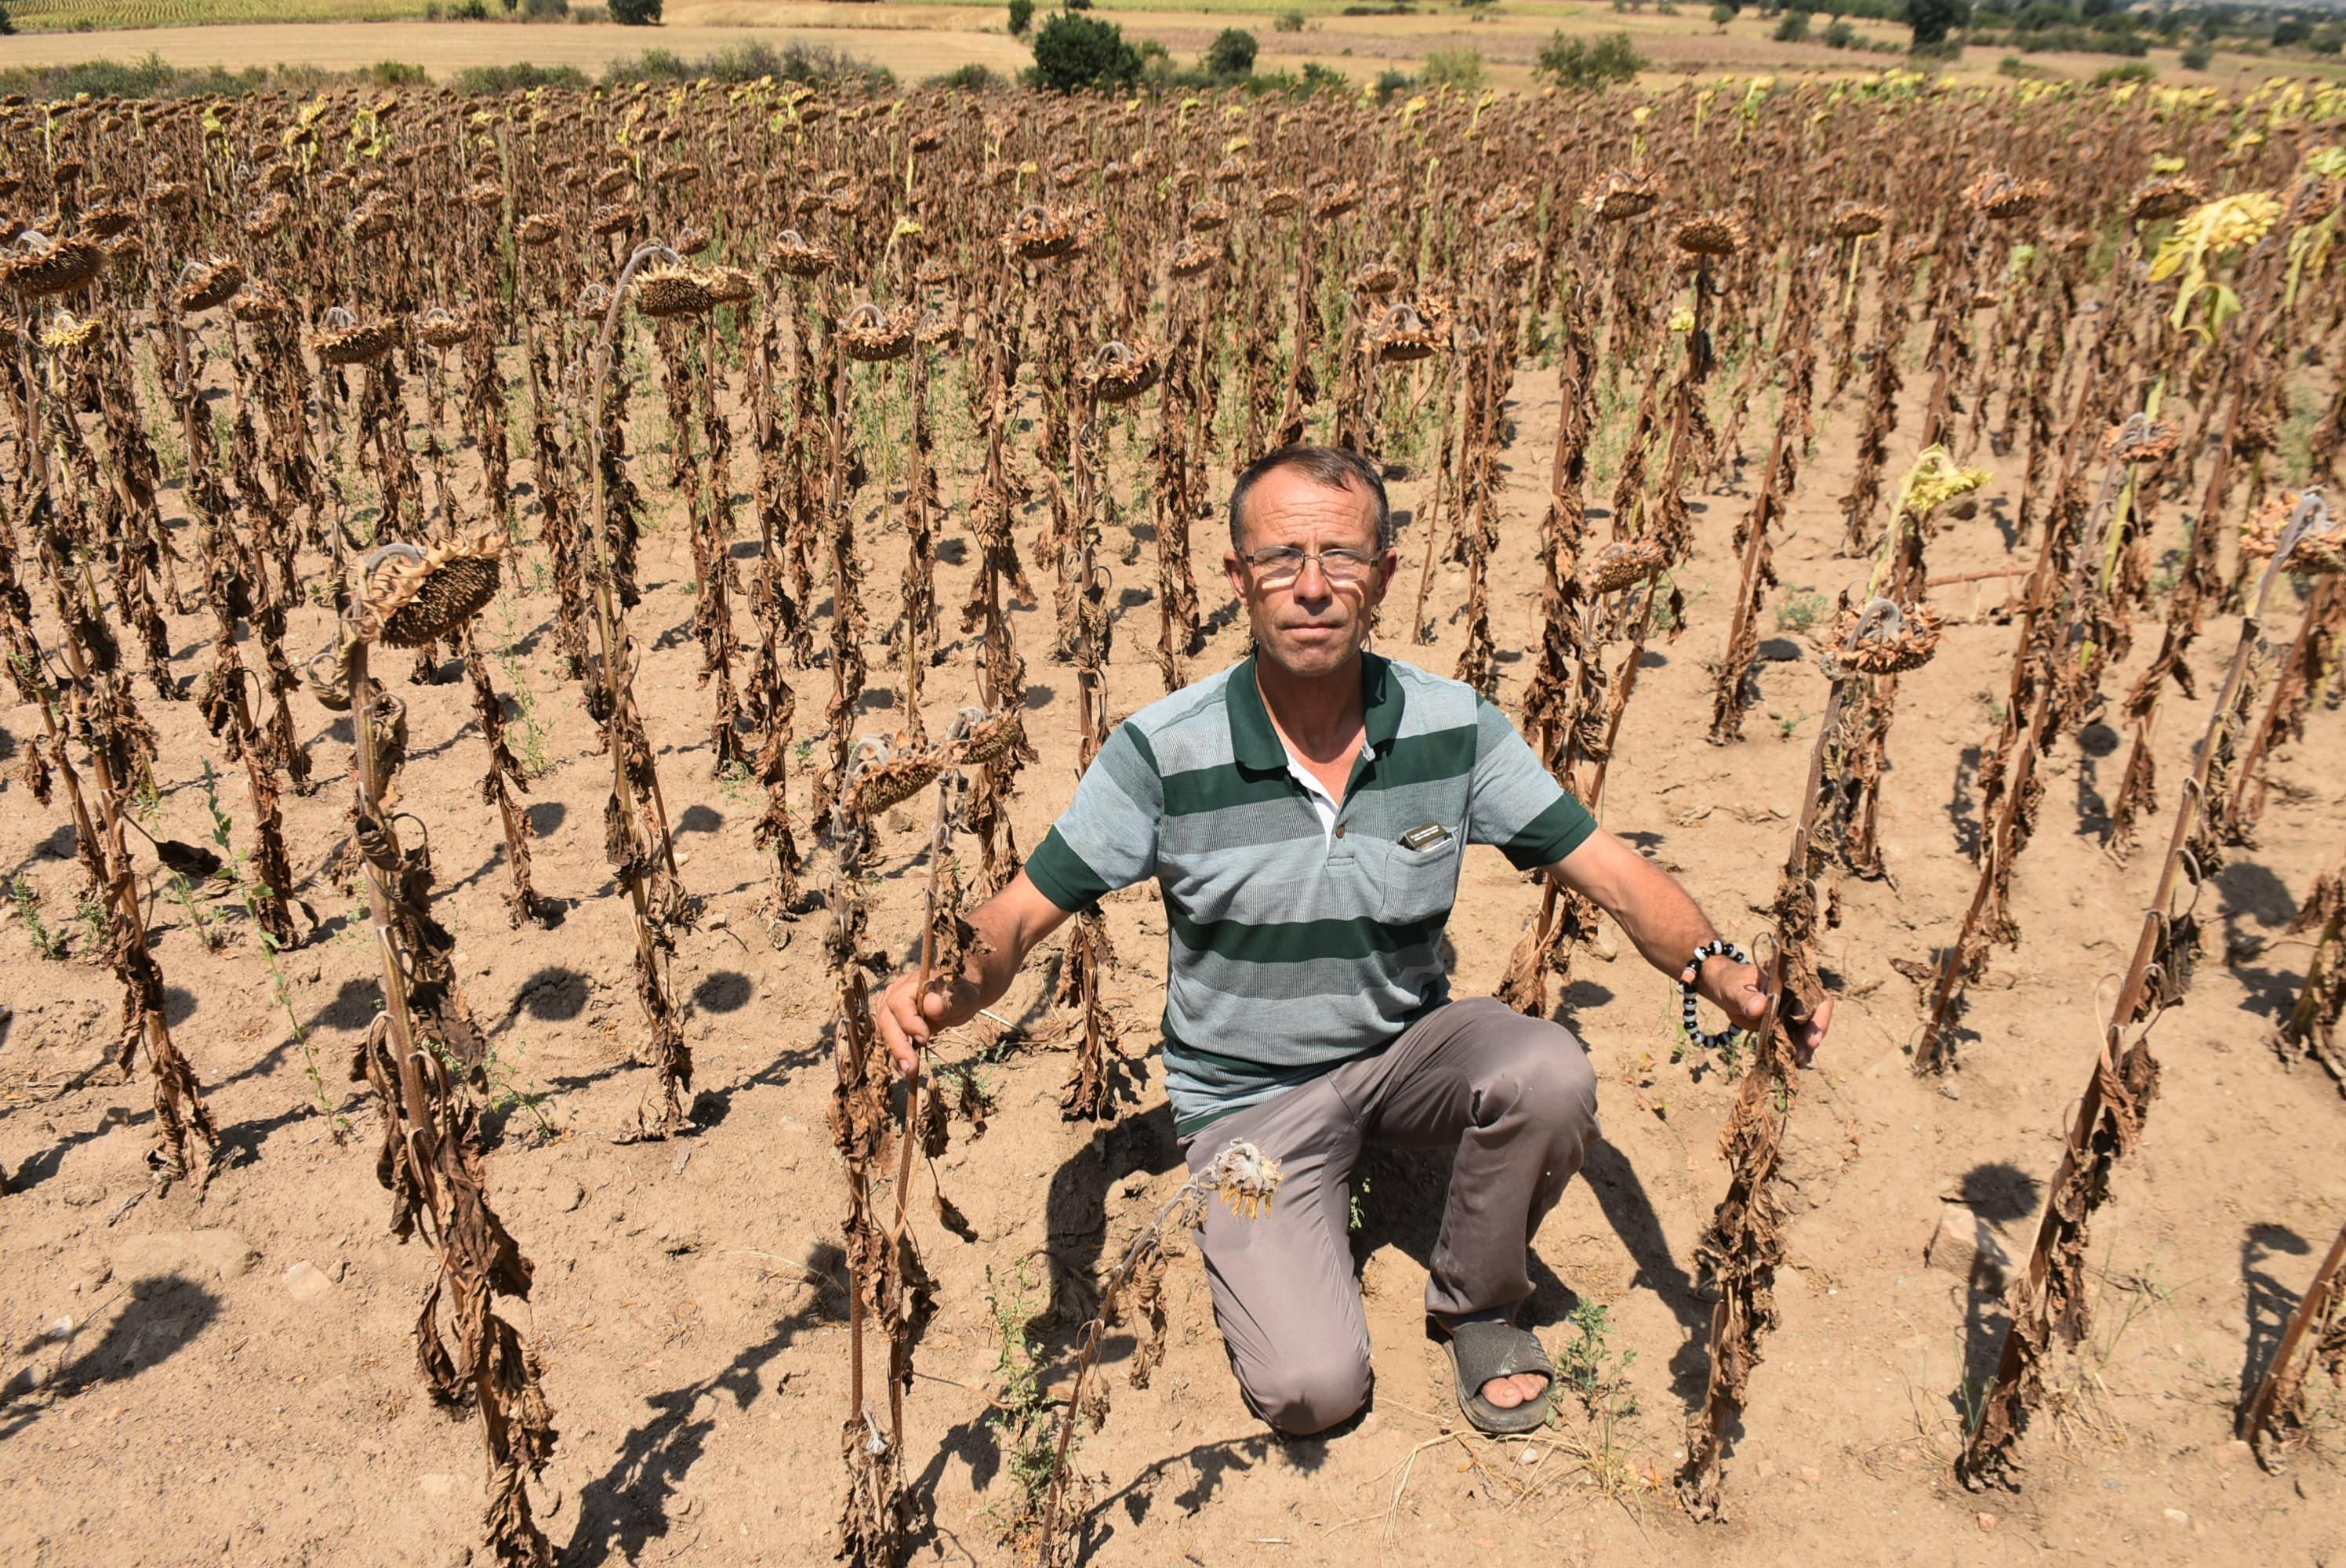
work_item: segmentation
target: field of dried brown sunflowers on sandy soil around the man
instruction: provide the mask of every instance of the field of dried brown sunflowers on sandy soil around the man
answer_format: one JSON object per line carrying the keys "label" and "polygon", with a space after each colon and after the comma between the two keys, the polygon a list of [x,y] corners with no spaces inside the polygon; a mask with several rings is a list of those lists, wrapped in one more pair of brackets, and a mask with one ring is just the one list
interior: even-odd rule
{"label": "field of dried brown sunflowers on sandy soil around the man", "polygon": [[[2341,115],[0,108],[0,1561],[2334,1561]],[[1771,976],[1687,1035],[1466,857],[1452,993],[1598,1070],[1530,1437],[1443,1153],[1368,1411],[1248,1413],[1147,883],[873,1035],[1246,655],[1293,439]]]}

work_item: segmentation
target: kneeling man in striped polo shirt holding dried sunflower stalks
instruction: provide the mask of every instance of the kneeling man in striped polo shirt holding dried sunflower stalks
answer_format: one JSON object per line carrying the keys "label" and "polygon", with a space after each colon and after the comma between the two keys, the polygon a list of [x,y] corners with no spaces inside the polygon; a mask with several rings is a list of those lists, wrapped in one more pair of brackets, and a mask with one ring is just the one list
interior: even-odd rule
{"label": "kneeling man in striped polo shirt holding dried sunflower stalks", "polygon": [[[1215,1204],[1201,1242],[1248,1404],[1309,1434],[1368,1401],[1347,1181],[1363,1143],[1386,1141],[1457,1155],[1426,1312],[1466,1418],[1527,1432],[1553,1380],[1516,1322],[1530,1242],[1595,1136],[1595,1075],[1562,1026],[1450,1000],[1438,941],[1462,850],[1497,845],[1588,894],[1673,976],[1717,932],[1473,688],[1365,653],[1398,568],[1365,458],[1288,446],[1248,467],[1222,568],[1253,657],[1107,739],[1025,871],[971,915],[985,948],[950,993],[891,984],[880,1035],[915,1075],[929,1038],[997,1000],[1060,920],[1157,878],[1166,1094],[1189,1164],[1246,1138],[1286,1169],[1269,1214]],[[1760,1021],[1750,965],[1708,958],[1696,984],[1738,1026]],[[1813,1049],[1828,1021],[1830,1000],[1797,1045]]]}

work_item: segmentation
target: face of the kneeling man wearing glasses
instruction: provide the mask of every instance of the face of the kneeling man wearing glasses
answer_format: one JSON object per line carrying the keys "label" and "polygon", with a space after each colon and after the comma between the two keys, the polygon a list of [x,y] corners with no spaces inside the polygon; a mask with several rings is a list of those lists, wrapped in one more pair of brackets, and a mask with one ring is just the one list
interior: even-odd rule
{"label": "face of the kneeling man wearing glasses", "polygon": [[[1318,559],[1300,570],[1253,566],[1267,549],[1347,549],[1372,561],[1365,575],[1330,577]],[[1243,554],[1241,554],[1243,552]],[[1274,469],[1246,493],[1239,549],[1222,554],[1229,587],[1246,601],[1260,657],[1293,676],[1325,676],[1368,643],[1375,610],[1394,580],[1394,552],[1377,552],[1377,500],[1368,491],[1333,491],[1297,469]],[[1281,582],[1283,570],[1295,570]]]}

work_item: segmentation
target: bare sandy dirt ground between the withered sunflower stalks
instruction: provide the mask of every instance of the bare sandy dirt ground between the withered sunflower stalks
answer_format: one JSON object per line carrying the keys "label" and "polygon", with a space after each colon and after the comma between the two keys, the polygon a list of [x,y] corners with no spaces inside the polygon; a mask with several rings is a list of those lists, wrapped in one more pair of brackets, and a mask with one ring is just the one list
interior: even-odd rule
{"label": "bare sandy dirt ground between the withered sunflower stalks", "polygon": [[[396,49],[382,49],[396,52]],[[1919,380],[1919,378],[1910,378]],[[413,385],[413,383],[411,383]],[[1527,369],[1506,474],[1506,528],[1492,624],[1501,702],[1523,695],[1537,620],[1532,530],[1546,491],[1555,383]],[[1823,423],[1818,455],[1778,545],[1788,584],[1825,596],[1863,566],[1832,554],[1849,479],[1851,406]],[[1745,432],[1764,448],[1767,432]],[[1893,462],[1910,455],[1905,446]],[[1935,573],[2025,561],[2006,540],[2020,460],[1999,469],[1975,521],[1931,545]],[[516,477],[526,465],[516,465]],[[746,472],[739,477],[746,488]],[[948,481],[948,500],[969,477]],[[1405,479],[1396,505],[1426,486]],[[657,493],[657,491],[655,491]],[[1602,488],[1593,486],[1595,495]],[[1605,824],[1677,871],[1717,922],[1748,939],[1776,883],[1809,765],[1825,681],[1790,634],[1769,643],[1767,702],[1750,739],[1706,744],[1708,669],[1734,596],[1729,533],[1748,502],[1699,505],[1699,549],[1682,573],[1689,629],[1656,643],[1605,798]],[[528,512],[528,502],[523,502]],[[167,500],[167,509],[176,509]],[[1140,512],[1145,516],[1145,507]],[[1598,509],[1602,528],[1602,509]],[[2175,514],[2168,514],[2175,521]],[[1028,516],[1023,538],[1039,526]],[[957,526],[950,530],[957,535]],[[1147,648],[1152,545],[1128,542],[1117,568],[1124,610],[1110,704],[1159,695]],[[1424,526],[1401,535],[1415,587]],[[753,542],[737,554],[751,554]],[[877,622],[903,540],[875,523],[863,540]],[[1215,526],[1196,530],[1206,610],[1227,606]],[[941,603],[969,568],[948,545]],[[645,545],[647,653],[638,692],[685,883],[711,901],[685,939],[676,988],[699,1077],[699,1134],[617,1143],[650,1084],[636,1066],[640,1019],[629,993],[629,922],[612,894],[601,819],[608,772],[575,688],[554,671],[551,599],[528,575],[483,617],[490,646],[521,650],[549,721],[549,772],[537,779],[535,871],[565,906],[551,932],[507,927],[502,840],[476,782],[483,765],[462,683],[401,685],[411,704],[406,805],[427,817],[441,873],[441,918],[460,937],[460,979],[493,1028],[500,1070],[542,1091],[551,1134],[523,1108],[493,1117],[493,1202],[537,1265],[518,1312],[547,1361],[561,1448],[540,1488],[542,1519],[565,1563],[809,1563],[830,1552],[840,1502],[838,1434],[847,1406],[845,1284],[835,1246],[840,1167],[823,1127],[828,1000],[819,918],[767,944],[753,908],[765,866],[751,847],[753,791],[711,777],[706,699],[694,688],[690,552],[671,521]],[[1037,577],[1044,580],[1042,575]],[[1049,589],[1044,589],[1049,594]],[[2334,765],[2346,721],[2318,711],[2308,737],[2273,761],[2262,843],[2240,850],[2201,899],[2210,960],[2189,1005],[2158,1028],[2165,1080],[2147,1138],[2116,1178],[2093,1244],[2093,1333],[2064,1361],[2060,1394],[2029,1434],[2018,1493],[1971,1495],[1952,1479],[1966,1376],[2001,1336],[1992,1270],[1947,1272],[1924,1258],[1945,1204],[2020,1251],[2050,1174],[2060,1124],[2086,1082],[2100,1007],[2133,948],[2156,850],[2130,866],[2100,845],[2116,789],[2116,737],[2090,728],[2050,758],[2043,826],[2018,871],[2018,953],[1999,951],[1975,995],[1961,1070],[1917,1082],[1903,1047],[1917,1033],[1910,984],[1893,960],[1926,958],[1952,934],[1978,831],[1971,749],[1989,730],[2013,634],[1987,617],[2003,584],[1942,589],[1959,620],[1938,660],[1900,685],[1884,803],[1891,880],[1849,883],[1846,918],[1828,937],[1842,1009],[1816,1070],[1802,1080],[1785,1181],[1797,1218],[1778,1279],[1781,1326],[1752,1378],[1745,1432],[1727,1467],[1729,1519],[1691,1523],[1668,1476],[1689,1401],[1706,1376],[1708,1303],[1691,1246],[1717,1202],[1715,1153],[1734,1084],[1694,1080],[1670,1061],[1670,988],[1635,955],[1591,958],[1565,1016],[1600,1073],[1605,1141],[1537,1239],[1537,1317],[1553,1345],[1581,1300],[1609,1310],[1607,1357],[1633,1397],[1612,1422],[1567,1399],[1555,1427],[1516,1441],[1457,1432],[1445,1366],[1422,1329],[1424,1258],[1443,1160],[1375,1155],[1358,1188],[1363,1291],[1377,1345],[1375,1404],[1325,1439],[1276,1441],[1239,1401],[1213,1329],[1194,1249],[1171,1272],[1171,1354],[1145,1392],[1117,1368],[1114,1411],[1082,1439],[1093,1476],[1093,1563],[1452,1563],[1530,1549],[1605,1563],[2320,1563],[2346,1552],[2346,1472],[2337,1401],[2320,1444],[2287,1476],[2257,1469],[2233,1441],[2233,1406],[2311,1277],[2313,1256],[2346,1218],[2337,1150],[2346,1099],[2318,1070],[2285,1070],[2269,1047],[2278,1009],[2304,969],[2280,934],[2339,847],[2346,777]],[[1778,594],[1781,599],[1783,594]],[[1450,613],[1457,573],[1436,570],[1440,636],[1394,657],[1447,674],[1459,650]],[[2285,596],[2287,599],[2287,596]],[[1389,615],[1398,629],[1405,608]],[[1243,631],[1213,615],[1211,671],[1243,653]],[[2287,608],[2276,636],[2294,629]],[[209,622],[174,624],[181,671],[202,669]],[[1072,786],[1074,678],[1046,657],[1049,603],[1016,615],[1030,657],[1028,768],[1013,817],[1039,840]],[[324,643],[319,610],[298,613],[296,655]],[[2170,695],[2161,739],[2165,805],[2186,772],[2205,702],[2236,638],[2219,620],[2201,641],[2201,702]],[[2111,676],[2123,690],[2156,638]],[[896,671],[870,648],[866,728],[894,728]],[[967,657],[948,657],[948,671]],[[401,662],[404,669],[404,662]],[[453,667],[450,667],[453,669]],[[800,732],[828,676],[793,671]],[[957,676],[927,685],[931,730],[964,699]],[[502,685],[511,685],[500,676]],[[157,833],[206,838],[195,779],[213,756],[192,704],[145,702],[162,728],[167,800]],[[312,876],[343,831],[347,728],[298,702],[324,789],[286,798],[296,873]],[[5,725],[23,735],[26,709]],[[2332,763],[2320,763],[2330,756]],[[223,805],[244,817],[223,768]],[[807,777],[798,775],[798,800]],[[42,812],[19,784],[0,805],[0,866],[23,876],[54,925],[68,925],[75,866],[63,812]],[[2144,843],[2165,840],[2163,817]],[[899,951],[913,937],[924,829],[884,833],[873,932]],[[314,1103],[305,1054],[270,998],[249,941],[206,953],[169,901],[155,908],[157,958],[171,981],[171,1023],[202,1075],[225,1136],[225,1169],[206,1197],[145,1197],[148,1087],[103,1077],[68,1087],[113,1040],[115,988],[82,960],[33,958],[9,918],[0,930],[0,1162],[19,1188],[0,1199],[0,1563],[129,1568],[134,1563],[420,1563],[474,1561],[481,1441],[469,1420],[434,1411],[418,1387],[408,1326],[429,1275],[422,1246],[385,1235],[373,1176],[373,1108],[343,1070],[375,1009],[373,951],[347,899],[303,890],[324,922],[289,958],[291,1014],[317,1052],[321,1084],[359,1136],[340,1138]],[[999,1110],[990,1131],[960,1131],[941,1162],[945,1190],[976,1230],[960,1242],[922,1216],[941,1314],[922,1383],[908,1399],[908,1474],[934,1521],[915,1561],[1004,1563],[988,1507],[1011,1488],[988,1427],[999,1338],[990,1291],[1063,1357],[1089,1307],[1091,1279],[1178,1183],[1157,1061],[1147,1054],[1164,979],[1164,915],[1152,892],[1110,904],[1124,967],[1112,1000],[1126,1026],[1131,1096],[1105,1129],[1065,1124],[1058,1087],[1070,1059],[1013,1054],[990,1068]],[[1497,852],[1469,854],[1450,925],[1459,995],[1490,991],[1537,892]],[[216,911],[225,915],[225,911]],[[1058,941],[1004,1002],[1039,1019]],[[1049,1268],[1044,1268],[1049,1258]],[[1028,1261],[1032,1291],[1018,1307]],[[1056,1286],[1056,1310],[1046,1300]],[[1058,1361],[1063,1376],[1065,1364]]]}

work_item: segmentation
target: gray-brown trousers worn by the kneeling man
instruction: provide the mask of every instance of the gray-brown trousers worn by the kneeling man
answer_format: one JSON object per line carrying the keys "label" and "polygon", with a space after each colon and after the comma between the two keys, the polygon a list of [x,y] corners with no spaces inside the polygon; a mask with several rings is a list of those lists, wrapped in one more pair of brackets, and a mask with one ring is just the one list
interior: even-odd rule
{"label": "gray-brown trousers worn by the kneeling man", "polygon": [[1255,1411],[1300,1437],[1368,1404],[1368,1314],[1347,1239],[1365,1143],[1457,1150],[1426,1284],[1426,1310],[1455,1319],[1530,1298],[1532,1235],[1595,1131],[1598,1080],[1572,1030],[1471,998],[1187,1138],[1189,1169],[1234,1138],[1283,1169],[1262,1218],[1215,1199],[1201,1237],[1213,1317]]}

